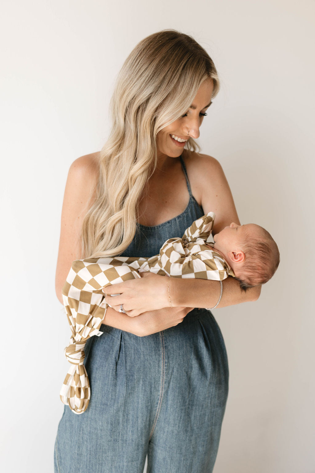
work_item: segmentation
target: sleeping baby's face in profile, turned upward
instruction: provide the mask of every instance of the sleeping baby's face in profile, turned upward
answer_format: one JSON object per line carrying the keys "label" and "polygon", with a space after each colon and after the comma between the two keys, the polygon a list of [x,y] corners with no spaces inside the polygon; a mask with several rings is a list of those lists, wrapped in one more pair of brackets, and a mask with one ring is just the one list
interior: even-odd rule
{"label": "sleeping baby's face in profile, turned upward", "polygon": [[221,232],[213,236],[213,248],[223,254],[228,254],[229,251],[242,250],[244,241],[251,240],[258,236],[260,227],[254,223],[247,225],[238,225],[232,222],[228,227],[223,228]]}

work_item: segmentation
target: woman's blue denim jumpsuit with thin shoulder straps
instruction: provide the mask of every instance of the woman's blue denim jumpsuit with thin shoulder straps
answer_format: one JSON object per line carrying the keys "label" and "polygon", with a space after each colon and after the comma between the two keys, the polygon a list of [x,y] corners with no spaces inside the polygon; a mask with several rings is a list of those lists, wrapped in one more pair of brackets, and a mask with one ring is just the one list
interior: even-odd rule
{"label": "woman's blue denim jumpsuit with thin shoulder straps", "polygon": [[[177,217],[137,224],[121,256],[153,256],[204,215],[191,193]],[[195,308],[175,327],[138,337],[102,324],[85,345],[87,410],[65,406],[55,473],[211,473],[228,395],[228,360],[211,312]]]}

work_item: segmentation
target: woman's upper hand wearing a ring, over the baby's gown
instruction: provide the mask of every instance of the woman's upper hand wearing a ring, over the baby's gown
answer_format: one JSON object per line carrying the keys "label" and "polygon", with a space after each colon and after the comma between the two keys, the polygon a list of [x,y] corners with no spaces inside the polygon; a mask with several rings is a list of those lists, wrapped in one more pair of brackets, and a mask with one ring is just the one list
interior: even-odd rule
{"label": "woman's upper hand wearing a ring, over the baby's gown", "polygon": [[[141,272],[140,275],[141,279],[132,279],[104,288],[107,304],[117,312],[122,304],[129,317],[170,307],[168,276],[159,276],[151,272]],[[111,294],[118,295],[111,296]]]}

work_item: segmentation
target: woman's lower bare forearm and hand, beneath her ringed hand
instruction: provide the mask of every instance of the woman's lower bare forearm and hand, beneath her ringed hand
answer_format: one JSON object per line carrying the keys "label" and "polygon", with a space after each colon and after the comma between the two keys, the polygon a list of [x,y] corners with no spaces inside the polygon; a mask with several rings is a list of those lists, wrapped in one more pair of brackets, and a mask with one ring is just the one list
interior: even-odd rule
{"label": "woman's lower bare forearm and hand, beneath her ringed hand", "polygon": [[191,307],[165,307],[131,318],[108,307],[103,324],[133,333],[138,337],[145,337],[175,327],[191,310]]}

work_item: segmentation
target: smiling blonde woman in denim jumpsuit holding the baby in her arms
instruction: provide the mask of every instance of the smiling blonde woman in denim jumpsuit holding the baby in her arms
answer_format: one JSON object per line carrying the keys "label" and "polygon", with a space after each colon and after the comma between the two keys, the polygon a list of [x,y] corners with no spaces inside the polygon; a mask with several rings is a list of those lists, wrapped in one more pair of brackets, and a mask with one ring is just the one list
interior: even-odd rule
{"label": "smiling blonde woman in denim jumpsuit holding the baby in her arms", "polygon": [[[152,256],[211,210],[213,233],[239,223],[220,164],[198,154],[194,141],[218,89],[213,61],[190,36],[162,31],[130,53],[112,97],[109,140],[70,166],[56,273],[61,303],[75,259]],[[103,334],[86,344],[90,404],[81,415],[65,407],[55,472],[142,473],[146,454],[151,473],[211,472],[228,364],[205,307],[216,305],[220,283],[147,273],[114,289],[106,290],[112,308]],[[219,307],[259,292],[241,292],[229,277]]]}

